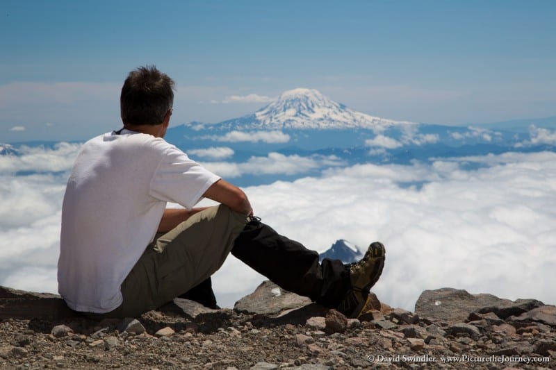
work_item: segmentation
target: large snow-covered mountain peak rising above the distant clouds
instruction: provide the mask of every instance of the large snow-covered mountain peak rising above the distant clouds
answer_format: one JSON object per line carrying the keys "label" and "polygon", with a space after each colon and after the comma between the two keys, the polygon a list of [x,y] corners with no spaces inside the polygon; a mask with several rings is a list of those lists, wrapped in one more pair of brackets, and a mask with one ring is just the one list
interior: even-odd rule
{"label": "large snow-covered mountain peak rising above the distant clouds", "polygon": [[229,119],[219,128],[229,130],[283,130],[283,129],[345,129],[367,128],[382,131],[395,124],[392,121],[366,115],[337,103],[314,89],[297,88],[281,94],[275,101],[252,115]]}

